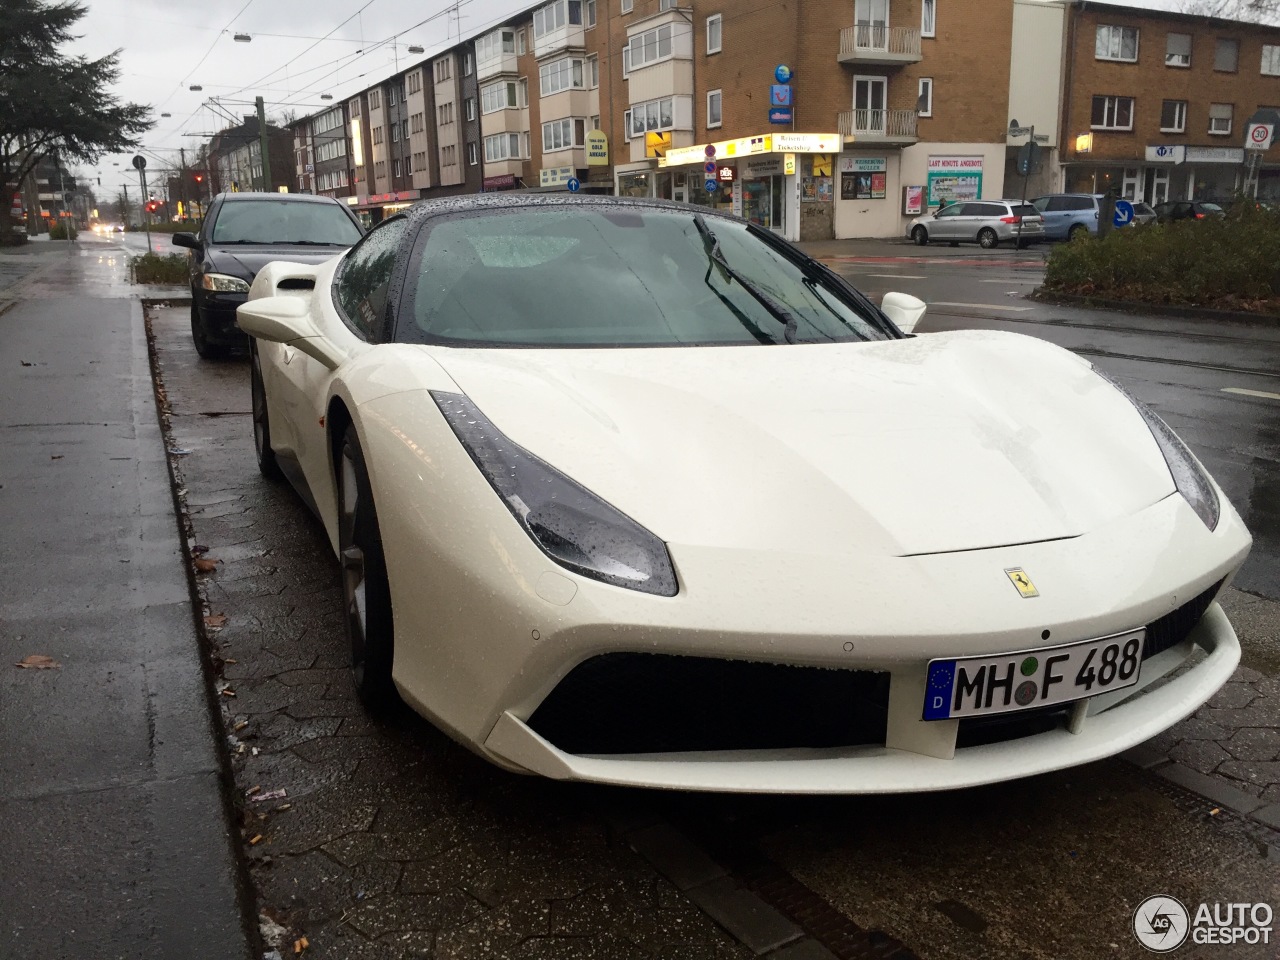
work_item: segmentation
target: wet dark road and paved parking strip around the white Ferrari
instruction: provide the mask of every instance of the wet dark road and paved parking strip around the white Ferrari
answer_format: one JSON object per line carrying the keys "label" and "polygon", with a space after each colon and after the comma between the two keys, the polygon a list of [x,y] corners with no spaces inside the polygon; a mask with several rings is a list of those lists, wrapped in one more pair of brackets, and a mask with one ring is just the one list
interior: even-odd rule
{"label": "wet dark road and paved parking strip around the white Ferrari", "polygon": [[[1268,365],[1280,369],[1280,337],[1230,329],[1229,339],[1204,339],[1203,325],[1179,334],[1167,321],[986,293],[1034,266],[911,266],[929,274],[913,292],[936,303],[922,329],[1044,335],[1089,351],[1151,402],[1256,530],[1239,585],[1280,593],[1276,498],[1267,502],[1280,481],[1280,401],[1222,393],[1280,392],[1266,375]],[[870,276],[906,273],[901,264],[837,269],[870,293],[906,283]],[[989,310],[996,303],[1018,310]],[[983,319],[993,312],[998,320]],[[728,864],[736,883],[804,918],[814,952],[796,957],[1138,957],[1147,954],[1132,914],[1147,896],[1280,900],[1275,832],[1120,759],[910,797],[657,795],[508,776],[413,718],[371,722],[342,668],[337,567],[319,525],[256,472],[247,364],[196,360],[184,308],[157,311],[154,329],[173,443],[186,452],[191,543],[218,561],[200,589],[209,612],[227,617],[215,641],[237,788],[288,790],[287,801],[241,801],[261,909],[287,931],[285,946],[306,934],[312,956],[357,959],[749,956],[621,838],[621,823],[654,814]],[[1247,708],[1252,724],[1274,730],[1280,607],[1234,598],[1254,668],[1215,700],[1215,716],[1225,723]],[[1207,742],[1196,739],[1197,723],[1206,722],[1181,724],[1166,746]],[[1256,767],[1280,767],[1280,745],[1256,756]],[[796,882],[800,895],[780,895],[795,893]],[[1188,946],[1176,956],[1275,957],[1276,948]]]}

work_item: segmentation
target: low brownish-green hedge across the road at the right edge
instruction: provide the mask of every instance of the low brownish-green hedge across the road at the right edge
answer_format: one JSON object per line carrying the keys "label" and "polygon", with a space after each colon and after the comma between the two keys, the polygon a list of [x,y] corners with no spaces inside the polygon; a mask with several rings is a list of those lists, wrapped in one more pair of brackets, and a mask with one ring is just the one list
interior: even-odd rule
{"label": "low brownish-green hedge across the road at the right edge", "polygon": [[1044,289],[1280,314],[1280,211],[1240,201],[1225,218],[1080,237],[1050,253]]}

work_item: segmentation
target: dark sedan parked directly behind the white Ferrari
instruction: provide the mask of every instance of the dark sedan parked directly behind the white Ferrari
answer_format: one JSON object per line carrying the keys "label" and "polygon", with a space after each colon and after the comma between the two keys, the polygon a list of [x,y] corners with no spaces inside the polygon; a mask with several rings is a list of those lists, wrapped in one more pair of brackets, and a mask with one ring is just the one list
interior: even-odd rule
{"label": "dark sedan parked directly behind the white Ferrari", "polygon": [[198,234],[175,233],[189,247],[191,339],[205,360],[248,340],[236,307],[248,300],[257,271],[273,260],[321,264],[364,236],[360,220],[332,197],[305,193],[223,193]]}

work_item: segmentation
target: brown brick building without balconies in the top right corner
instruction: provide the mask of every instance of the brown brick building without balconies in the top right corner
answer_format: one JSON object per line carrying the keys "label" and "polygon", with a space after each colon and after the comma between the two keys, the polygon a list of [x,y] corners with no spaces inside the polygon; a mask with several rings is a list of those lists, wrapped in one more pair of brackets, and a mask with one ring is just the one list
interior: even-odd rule
{"label": "brown brick building without balconies in the top right corner", "polygon": [[1068,33],[1064,183],[1129,200],[1229,198],[1247,161],[1280,198],[1280,148],[1245,150],[1280,108],[1280,28],[1078,0]]}

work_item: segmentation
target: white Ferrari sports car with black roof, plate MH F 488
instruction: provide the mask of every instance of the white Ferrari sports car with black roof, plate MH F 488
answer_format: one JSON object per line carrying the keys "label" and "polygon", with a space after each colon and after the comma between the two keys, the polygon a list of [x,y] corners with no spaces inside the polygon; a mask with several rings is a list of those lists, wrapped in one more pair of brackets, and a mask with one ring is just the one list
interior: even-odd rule
{"label": "white Ferrari sports car with black roof, plate MH F 488", "polygon": [[238,323],[360,695],[508,771],[904,792],[1158,735],[1239,663],[1240,517],[1087,358],[924,310],[718,211],[480,195]]}

